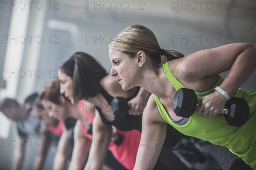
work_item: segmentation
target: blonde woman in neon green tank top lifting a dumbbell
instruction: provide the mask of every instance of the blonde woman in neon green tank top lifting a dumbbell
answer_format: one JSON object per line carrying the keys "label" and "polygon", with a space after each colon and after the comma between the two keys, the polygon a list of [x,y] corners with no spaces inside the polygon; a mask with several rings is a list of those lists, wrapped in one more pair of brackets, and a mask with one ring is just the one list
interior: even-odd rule
{"label": "blonde woman in neon green tank top lifting a dumbbell", "polygon": [[[255,44],[229,44],[183,57],[180,52],[160,48],[153,32],[145,26],[133,25],[120,32],[108,47],[111,76],[116,77],[122,89],[140,86],[152,93],[143,113],[145,146],[139,147],[134,169],[154,167],[167,124],[188,136],[211,137],[210,142],[228,147],[256,169],[256,93],[239,89],[255,70]],[[169,60],[163,66],[159,66],[161,56]],[[122,76],[124,69],[129,76]],[[188,74],[191,70],[196,74]],[[209,70],[211,75],[207,74]],[[219,73],[227,70],[230,72],[223,79]],[[180,88],[193,89],[198,101],[204,104],[187,119],[176,116],[172,109],[174,95]],[[233,96],[244,98],[250,107],[249,119],[241,127],[228,125],[224,116],[218,114]],[[180,121],[182,125],[177,124]]]}

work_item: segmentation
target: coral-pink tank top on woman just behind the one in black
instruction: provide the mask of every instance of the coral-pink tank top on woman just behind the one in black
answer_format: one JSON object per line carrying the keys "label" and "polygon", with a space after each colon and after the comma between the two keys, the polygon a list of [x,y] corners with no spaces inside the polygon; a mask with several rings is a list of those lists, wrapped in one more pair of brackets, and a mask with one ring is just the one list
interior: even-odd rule
{"label": "coral-pink tank top on woman just behind the one in black", "polygon": [[[82,100],[79,102],[79,105],[84,115],[90,120],[90,123],[93,123],[94,116],[86,111]],[[84,135],[87,136],[89,139],[93,139],[93,136],[87,133],[87,129],[81,121],[80,125],[81,129],[84,132]],[[111,141],[108,149],[112,152],[113,156],[116,158],[117,161],[119,161],[128,170],[132,170],[136,161],[141,133],[139,130],[121,131],[118,129],[116,130],[116,133],[123,136],[122,144],[115,145]]]}

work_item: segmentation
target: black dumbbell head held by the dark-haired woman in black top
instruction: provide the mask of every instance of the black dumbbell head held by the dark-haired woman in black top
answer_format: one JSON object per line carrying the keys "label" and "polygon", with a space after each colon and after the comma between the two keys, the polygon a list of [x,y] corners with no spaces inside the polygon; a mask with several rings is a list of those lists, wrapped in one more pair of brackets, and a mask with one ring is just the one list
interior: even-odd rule
{"label": "black dumbbell head held by the dark-haired woman in black top", "polygon": [[114,97],[111,102],[111,111],[115,116],[125,116],[128,113],[128,102],[124,97]]}

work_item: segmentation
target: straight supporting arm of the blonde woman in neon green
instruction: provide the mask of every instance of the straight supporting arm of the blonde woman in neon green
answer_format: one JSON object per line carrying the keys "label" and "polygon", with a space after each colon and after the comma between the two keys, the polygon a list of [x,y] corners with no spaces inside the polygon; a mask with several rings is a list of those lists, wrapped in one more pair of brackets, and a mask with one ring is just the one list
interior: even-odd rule
{"label": "straight supporting arm of the blonde woman in neon green", "polygon": [[151,95],[143,113],[141,140],[134,170],[154,168],[165,137],[166,123],[160,116],[154,96]]}

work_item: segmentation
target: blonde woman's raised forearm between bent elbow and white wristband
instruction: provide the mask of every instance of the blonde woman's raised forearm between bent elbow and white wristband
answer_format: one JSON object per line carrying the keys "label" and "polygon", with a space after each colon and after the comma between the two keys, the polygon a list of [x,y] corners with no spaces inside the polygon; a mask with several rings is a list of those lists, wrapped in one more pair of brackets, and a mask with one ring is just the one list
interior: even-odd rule
{"label": "blonde woman's raised forearm between bent elbow and white wristband", "polygon": [[248,45],[244,51],[234,61],[230,72],[220,88],[227,92],[230,96],[253,74],[256,69],[255,44]]}

